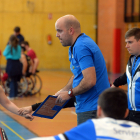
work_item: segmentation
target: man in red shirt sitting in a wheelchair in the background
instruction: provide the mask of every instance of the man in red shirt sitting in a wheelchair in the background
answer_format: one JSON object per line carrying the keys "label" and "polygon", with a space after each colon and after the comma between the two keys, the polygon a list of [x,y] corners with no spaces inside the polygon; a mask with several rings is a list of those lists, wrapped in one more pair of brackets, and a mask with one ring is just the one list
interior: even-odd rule
{"label": "man in red shirt sitting in a wheelchair in the background", "polygon": [[32,59],[33,61],[32,74],[35,74],[38,64],[39,64],[39,59],[37,58],[33,49],[30,48],[29,43],[27,41],[22,42],[21,46],[25,47],[27,51],[27,55]]}

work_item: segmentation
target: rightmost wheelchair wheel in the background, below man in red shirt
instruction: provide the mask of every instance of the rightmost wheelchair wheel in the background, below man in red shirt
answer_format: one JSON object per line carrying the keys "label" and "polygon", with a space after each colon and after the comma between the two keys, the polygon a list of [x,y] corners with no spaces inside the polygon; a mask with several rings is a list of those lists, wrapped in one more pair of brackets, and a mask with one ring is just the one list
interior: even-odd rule
{"label": "rightmost wheelchair wheel in the background, below man in red shirt", "polygon": [[34,81],[34,88],[32,90],[32,94],[35,95],[36,93],[40,93],[40,90],[42,88],[42,81],[41,78],[35,74],[32,75],[33,81]]}

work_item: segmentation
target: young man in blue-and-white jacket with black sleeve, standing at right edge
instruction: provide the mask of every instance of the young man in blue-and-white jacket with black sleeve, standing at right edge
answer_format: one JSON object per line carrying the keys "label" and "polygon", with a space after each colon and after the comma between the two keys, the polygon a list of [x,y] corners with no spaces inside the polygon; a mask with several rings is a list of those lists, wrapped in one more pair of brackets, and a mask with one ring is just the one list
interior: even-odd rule
{"label": "young man in blue-and-white jacket with black sleeve, standing at right edge", "polygon": [[129,29],[125,34],[126,48],[131,54],[126,72],[117,78],[112,87],[128,84],[128,109],[127,120],[140,125],[140,28]]}

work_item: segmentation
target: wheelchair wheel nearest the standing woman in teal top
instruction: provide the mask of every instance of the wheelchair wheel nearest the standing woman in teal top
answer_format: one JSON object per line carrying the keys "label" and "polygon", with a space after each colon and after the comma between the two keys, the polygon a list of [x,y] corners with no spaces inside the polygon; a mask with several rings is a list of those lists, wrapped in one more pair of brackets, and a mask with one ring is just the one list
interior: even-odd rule
{"label": "wheelchair wheel nearest the standing woman in teal top", "polygon": [[28,91],[28,81],[25,76],[22,76],[18,83],[18,97],[22,96]]}

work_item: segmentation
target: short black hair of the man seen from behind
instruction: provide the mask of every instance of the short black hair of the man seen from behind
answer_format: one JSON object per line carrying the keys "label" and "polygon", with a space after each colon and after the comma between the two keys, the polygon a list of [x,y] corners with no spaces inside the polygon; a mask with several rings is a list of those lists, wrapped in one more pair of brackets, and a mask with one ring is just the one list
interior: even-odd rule
{"label": "short black hair of the man seen from behind", "polygon": [[102,108],[106,117],[123,119],[127,105],[127,95],[120,88],[108,88],[100,94],[98,105]]}

